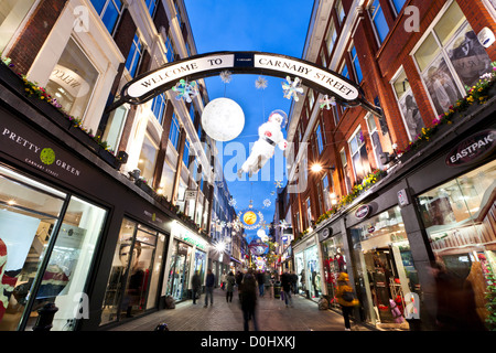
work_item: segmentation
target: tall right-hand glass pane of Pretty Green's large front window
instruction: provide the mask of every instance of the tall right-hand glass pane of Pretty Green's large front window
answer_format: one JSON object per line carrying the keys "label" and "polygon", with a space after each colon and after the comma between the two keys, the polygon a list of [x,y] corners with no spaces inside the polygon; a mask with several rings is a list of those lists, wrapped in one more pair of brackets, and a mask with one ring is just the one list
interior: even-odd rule
{"label": "tall right-hand glass pane of Pretty Green's large front window", "polygon": [[[36,302],[54,302],[58,308],[53,331],[73,330],[75,298],[85,292],[95,247],[107,212],[72,197],[36,293]],[[30,325],[35,317],[30,317]]]}

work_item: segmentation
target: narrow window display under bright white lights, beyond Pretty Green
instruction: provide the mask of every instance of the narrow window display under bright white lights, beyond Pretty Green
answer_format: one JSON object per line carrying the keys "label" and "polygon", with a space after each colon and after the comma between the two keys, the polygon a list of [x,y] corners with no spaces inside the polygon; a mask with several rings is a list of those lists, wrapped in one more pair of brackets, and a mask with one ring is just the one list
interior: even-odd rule
{"label": "narrow window display under bright white lights, beyond Pretty Green", "polygon": [[175,300],[187,298],[192,252],[193,248],[190,245],[174,239],[171,269],[169,271],[168,296],[172,296]]}

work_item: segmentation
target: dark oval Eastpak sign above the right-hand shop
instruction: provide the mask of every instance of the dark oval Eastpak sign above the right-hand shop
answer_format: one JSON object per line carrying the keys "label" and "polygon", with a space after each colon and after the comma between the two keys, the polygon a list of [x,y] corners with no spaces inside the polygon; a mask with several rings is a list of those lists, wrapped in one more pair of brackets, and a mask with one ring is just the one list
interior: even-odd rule
{"label": "dark oval Eastpak sign above the right-hand shop", "polygon": [[484,130],[460,142],[446,157],[448,167],[461,167],[483,160],[496,148],[496,130]]}

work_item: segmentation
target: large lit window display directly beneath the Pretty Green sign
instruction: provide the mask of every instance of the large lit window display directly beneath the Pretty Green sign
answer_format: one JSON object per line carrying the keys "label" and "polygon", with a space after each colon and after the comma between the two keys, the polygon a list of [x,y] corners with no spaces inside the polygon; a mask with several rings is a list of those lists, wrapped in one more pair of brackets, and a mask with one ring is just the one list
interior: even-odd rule
{"label": "large lit window display directly beneath the Pretty Green sign", "polygon": [[2,167],[0,208],[0,330],[31,330],[46,303],[73,330],[107,212]]}

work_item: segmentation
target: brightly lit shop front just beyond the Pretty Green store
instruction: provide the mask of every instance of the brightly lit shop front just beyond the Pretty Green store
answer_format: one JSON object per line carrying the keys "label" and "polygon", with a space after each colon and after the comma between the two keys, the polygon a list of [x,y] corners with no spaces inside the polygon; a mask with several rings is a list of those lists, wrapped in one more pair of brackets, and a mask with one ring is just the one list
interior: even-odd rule
{"label": "brightly lit shop front just beyond the Pretty Green store", "polygon": [[192,298],[191,279],[195,271],[198,271],[202,284],[205,282],[208,243],[176,221],[172,225],[172,238],[164,293],[175,301],[183,301]]}

